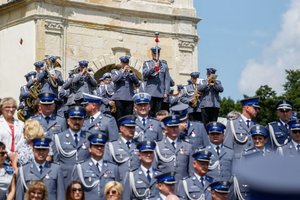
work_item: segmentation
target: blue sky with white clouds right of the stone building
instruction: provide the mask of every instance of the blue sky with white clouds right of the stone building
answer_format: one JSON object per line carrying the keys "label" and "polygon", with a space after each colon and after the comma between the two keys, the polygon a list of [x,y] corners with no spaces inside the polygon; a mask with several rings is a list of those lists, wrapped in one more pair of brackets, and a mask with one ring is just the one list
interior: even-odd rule
{"label": "blue sky with white clouds right of the stone building", "polygon": [[300,1],[194,0],[194,5],[202,19],[201,78],[206,67],[216,68],[222,96],[235,100],[266,84],[281,94],[284,69],[300,62]]}

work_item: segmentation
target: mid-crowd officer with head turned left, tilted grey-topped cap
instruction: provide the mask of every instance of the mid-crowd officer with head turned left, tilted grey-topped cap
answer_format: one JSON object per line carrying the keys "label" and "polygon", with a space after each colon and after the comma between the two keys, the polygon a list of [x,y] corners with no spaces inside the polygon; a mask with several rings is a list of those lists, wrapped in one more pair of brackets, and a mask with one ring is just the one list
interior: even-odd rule
{"label": "mid-crowd officer with head turned left, tilted grey-topped cap", "polygon": [[192,145],[193,150],[209,145],[206,129],[202,122],[188,119],[187,104],[178,104],[170,108],[172,115],[179,116],[180,138]]}

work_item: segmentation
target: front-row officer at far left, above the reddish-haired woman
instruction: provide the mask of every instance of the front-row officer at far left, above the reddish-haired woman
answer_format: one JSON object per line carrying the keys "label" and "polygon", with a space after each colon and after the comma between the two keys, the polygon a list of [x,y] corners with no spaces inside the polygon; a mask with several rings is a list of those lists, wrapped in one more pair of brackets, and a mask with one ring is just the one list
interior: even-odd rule
{"label": "front-row officer at far left, above the reddish-haired woman", "polygon": [[21,166],[18,172],[16,199],[24,199],[28,185],[33,180],[41,180],[48,190],[47,199],[64,199],[65,185],[62,168],[46,161],[51,139],[35,138],[32,141],[34,160]]}

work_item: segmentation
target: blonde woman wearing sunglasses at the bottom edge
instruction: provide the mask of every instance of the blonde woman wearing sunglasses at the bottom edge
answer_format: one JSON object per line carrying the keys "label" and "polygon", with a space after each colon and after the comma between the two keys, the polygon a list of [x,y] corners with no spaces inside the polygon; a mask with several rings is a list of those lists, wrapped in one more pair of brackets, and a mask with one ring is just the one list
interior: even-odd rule
{"label": "blonde woman wearing sunglasses at the bottom edge", "polygon": [[121,200],[123,194],[123,186],[117,181],[109,181],[104,187],[106,200]]}

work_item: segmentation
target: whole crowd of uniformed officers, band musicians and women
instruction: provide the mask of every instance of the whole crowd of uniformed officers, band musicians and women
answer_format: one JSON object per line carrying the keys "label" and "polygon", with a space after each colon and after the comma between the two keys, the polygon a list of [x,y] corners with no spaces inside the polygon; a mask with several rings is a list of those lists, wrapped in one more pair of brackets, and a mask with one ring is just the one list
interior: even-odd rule
{"label": "whole crowd of uniformed officers, band musicians and women", "polygon": [[290,101],[278,102],[267,126],[255,121],[257,97],[221,123],[216,69],[203,79],[192,72],[174,91],[160,51],[151,48],[141,80],[129,56],[99,80],[85,60],[67,80],[59,57],[34,63],[19,106],[0,102],[0,200],[248,199],[236,165],[300,155]]}

